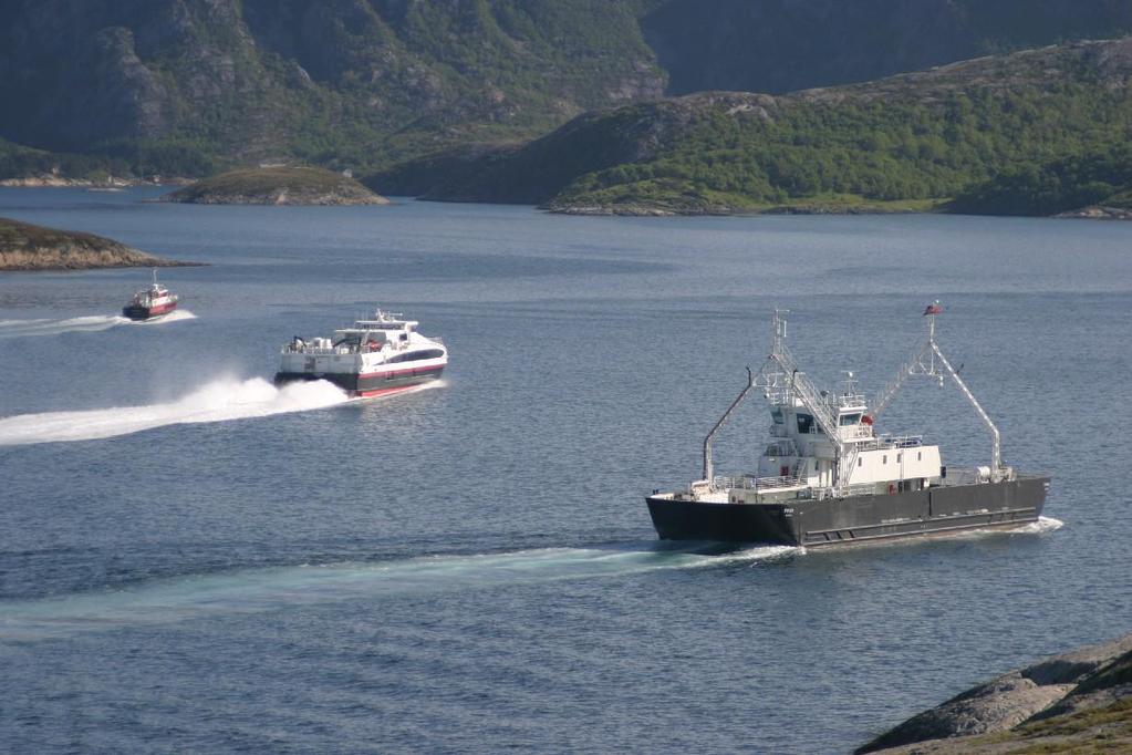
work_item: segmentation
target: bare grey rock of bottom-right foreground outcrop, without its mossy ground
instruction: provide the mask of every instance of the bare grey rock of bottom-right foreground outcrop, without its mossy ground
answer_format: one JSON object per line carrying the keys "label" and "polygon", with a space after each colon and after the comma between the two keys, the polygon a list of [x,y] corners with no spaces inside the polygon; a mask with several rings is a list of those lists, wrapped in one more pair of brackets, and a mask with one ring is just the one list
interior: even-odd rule
{"label": "bare grey rock of bottom-right foreground outcrop, without its mossy ground", "polygon": [[[1011,752],[1003,739],[977,737],[1006,731],[1029,736],[1032,732],[1027,724],[1106,707],[1130,694],[1132,634],[972,687],[938,707],[914,715],[857,753]],[[1032,738],[1029,744],[1034,744]]]}

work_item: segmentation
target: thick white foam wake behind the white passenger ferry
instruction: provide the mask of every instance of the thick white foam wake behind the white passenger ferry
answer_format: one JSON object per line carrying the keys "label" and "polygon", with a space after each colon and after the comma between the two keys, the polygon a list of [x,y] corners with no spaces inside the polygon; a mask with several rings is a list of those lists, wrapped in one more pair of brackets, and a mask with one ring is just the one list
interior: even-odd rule
{"label": "thick white foam wake behind the white passenger ferry", "polygon": [[346,394],[325,380],[292,383],[276,388],[263,378],[221,379],[165,404],[43,412],[0,419],[0,446],[94,440],[166,424],[267,417],[321,409],[345,401],[349,401]]}

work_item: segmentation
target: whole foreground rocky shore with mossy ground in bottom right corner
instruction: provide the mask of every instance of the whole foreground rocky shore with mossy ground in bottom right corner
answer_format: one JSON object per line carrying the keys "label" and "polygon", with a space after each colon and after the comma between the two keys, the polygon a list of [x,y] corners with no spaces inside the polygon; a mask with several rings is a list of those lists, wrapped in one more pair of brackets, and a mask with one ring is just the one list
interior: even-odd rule
{"label": "whole foreground rocky shore with mossy ground in bottom right corner", "polygon": [[1132,752],[1132,634],[1004,674],[856,752]]}

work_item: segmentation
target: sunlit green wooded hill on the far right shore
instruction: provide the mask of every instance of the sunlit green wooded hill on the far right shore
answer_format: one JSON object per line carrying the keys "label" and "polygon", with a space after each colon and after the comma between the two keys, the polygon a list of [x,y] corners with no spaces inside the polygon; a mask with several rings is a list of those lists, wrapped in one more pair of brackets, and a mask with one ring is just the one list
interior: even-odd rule
{"label": "sunlit green wooded hill on the far right shore", "polygon": [[924,207],[1004,171],[1123,143],[1130,76],[1132,37],[778,97],[702,93],[588,114],[517,148],[411,162],[369,183],[563,212]]}

